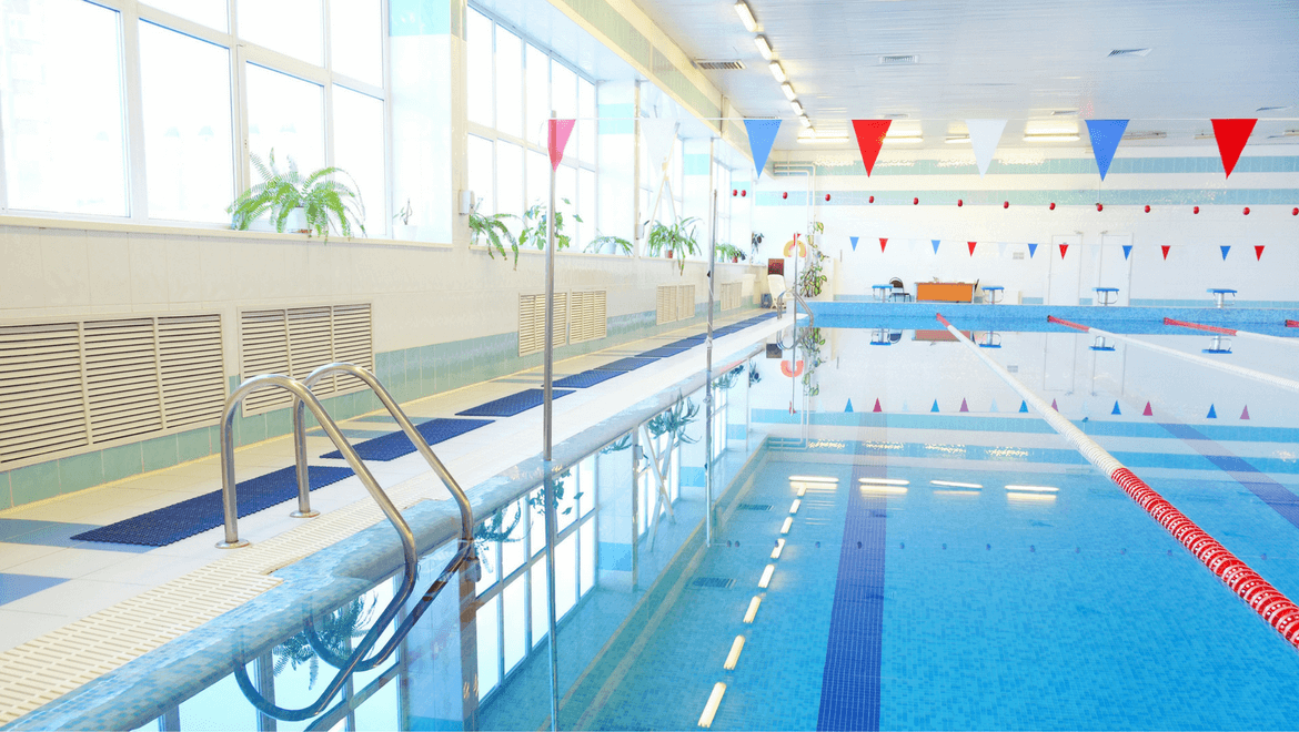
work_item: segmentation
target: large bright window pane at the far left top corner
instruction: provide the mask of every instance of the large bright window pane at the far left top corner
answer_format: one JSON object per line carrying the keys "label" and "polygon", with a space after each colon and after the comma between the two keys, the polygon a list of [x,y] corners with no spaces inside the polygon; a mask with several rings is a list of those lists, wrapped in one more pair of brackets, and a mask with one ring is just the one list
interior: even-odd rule
{"label": "large bright window pane at the far left top corner", "polygon": [[9,208],[126,215],[118,14],[79,0],[5,0],[0,34]]}

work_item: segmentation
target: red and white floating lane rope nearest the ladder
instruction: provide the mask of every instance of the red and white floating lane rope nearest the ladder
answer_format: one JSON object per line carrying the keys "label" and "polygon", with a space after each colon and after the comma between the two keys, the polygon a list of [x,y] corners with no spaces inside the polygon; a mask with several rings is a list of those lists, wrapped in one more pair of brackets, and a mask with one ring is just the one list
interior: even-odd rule
{"label": "red and white floating lane rope nearest the ladder", "polygon": [[1182,546],[1186,546],[1196,559],[1203,562],[1211,572],[1231,588],[1231,592],[1241,597],[1269,626],[1276,628],[1290,645],[1299,648],[1299,606],[1291,602],[1285,594],[1281,594],[1268,580],[1251,570],[1248,565],[1228,552],[1226,548],[1204,532],[1204,530],[1195,526],[1182,511],[1173,507],[1172,504],[1165,501],[1150,485],[1146,485],[1146,482],[1133,475],[1133,471],[1124,467],[1121,462],[1115,459],[1113,456],[1083,433],[1082,430],[1077,428],[1059,411],[1051,409],[1050,404],[1042,401],[1038,395],[1029,391],[1009,371],[1003,369],[1000,363],[992,361],[991,357],[974,345],[964,334],[952,327],[942,314],[938,315],[938,322],[943,323],[948,332],[965,344],[974,356],[978,356],[1012,389],[1018,392],[1020,397],[1040,414],[1052,430],[1059,432],[1061,437],[1082,453],[1082,457],[1087,458],[1091,465],[1096,466],[1098,470],[1122,488],[1133,501],[1137,501],[1137,505],[1168,530]]}

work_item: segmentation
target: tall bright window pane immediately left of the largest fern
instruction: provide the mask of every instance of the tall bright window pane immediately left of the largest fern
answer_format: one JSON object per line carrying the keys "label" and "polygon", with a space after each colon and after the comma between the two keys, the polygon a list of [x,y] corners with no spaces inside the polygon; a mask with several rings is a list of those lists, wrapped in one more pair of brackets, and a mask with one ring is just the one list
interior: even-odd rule
{"label": "tall bright window pane immediately left of the largest fern", "polygon": [[140,88],[149,218],[230,221],[230,52],[140,23]]}

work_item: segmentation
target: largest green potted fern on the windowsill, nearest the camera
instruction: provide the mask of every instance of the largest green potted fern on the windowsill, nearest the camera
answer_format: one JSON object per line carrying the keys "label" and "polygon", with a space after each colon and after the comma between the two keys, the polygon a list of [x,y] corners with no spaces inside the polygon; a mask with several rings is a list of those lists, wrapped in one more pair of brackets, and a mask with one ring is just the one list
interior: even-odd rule
{"label": "largest green potted fern on the windowsill, nearest the camera", "polygon": [[275,165],[274,149],[266,156],[266,162],[256,154],[251,158],[261,183],[240,193],[226,208],[226,213],[233,217],[231,228],[246,231],[252,222],[269,215],[275,231],[283,234],[290,217],[301,209],[305,222],[304,228],[297,230],[301,234],[314,234],[326,241],[331,230],[342,236],[352,236],[353,231],[365,235],[365,205],[361,195],[334,178],[338,174],[347,175],[346,171],[330,166],[304,175],[292,157],[288,158],[288,170],[282,171]]}

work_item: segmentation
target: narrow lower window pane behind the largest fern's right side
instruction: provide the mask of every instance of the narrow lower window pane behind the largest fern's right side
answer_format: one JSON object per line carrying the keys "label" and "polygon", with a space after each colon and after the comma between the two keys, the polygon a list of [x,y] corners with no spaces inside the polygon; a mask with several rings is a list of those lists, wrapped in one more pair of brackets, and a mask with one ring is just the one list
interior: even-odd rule
{"label": "narrow lower window pane behind the largest fern's right side", "polygon": [[388,230],[383,149],[383,101],[335,86],[334,165],[348,174],[335,179],[357,192],[361,223],[370,236]]}

